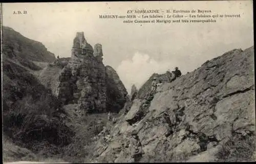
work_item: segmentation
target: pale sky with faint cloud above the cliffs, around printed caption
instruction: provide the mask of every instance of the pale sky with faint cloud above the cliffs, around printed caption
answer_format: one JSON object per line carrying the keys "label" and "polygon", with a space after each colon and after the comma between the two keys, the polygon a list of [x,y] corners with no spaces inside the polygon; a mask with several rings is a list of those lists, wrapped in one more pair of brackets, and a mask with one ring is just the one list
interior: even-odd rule
{"label": "pale sky with faint cloud above the cliffs, around printed caption", "polygon": [[[102,44],[104,65],[117,71],[129,93],[133,84],[139,88],[153,73],[178,66],[186,74],[227,51],[254,45],[252,1],[4,3],[2,7],[3,26],[42,42],[55,56],[71,57],[76,32],[84,32],[92,46]],[[99,18],[137,9],[199,9],[241,17],[142,25]],[[27,14],[13,14],[18,10]]]}

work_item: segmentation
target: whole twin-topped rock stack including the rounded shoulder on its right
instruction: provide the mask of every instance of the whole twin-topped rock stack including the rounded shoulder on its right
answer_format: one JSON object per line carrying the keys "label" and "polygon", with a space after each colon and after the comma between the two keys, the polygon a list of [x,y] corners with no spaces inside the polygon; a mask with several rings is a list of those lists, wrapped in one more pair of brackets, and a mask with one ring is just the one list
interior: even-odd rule
{"label": "whole twin-topped rock stack including the rounded shoulder on its right", "polygon": [[63,103],[81,104],[89,113],[119,111],[125,103],[126,89],[114,69],[103,65],[101,44],[94,48],[83,32],[76,34],[72,57],[63,68],[57,95]]}

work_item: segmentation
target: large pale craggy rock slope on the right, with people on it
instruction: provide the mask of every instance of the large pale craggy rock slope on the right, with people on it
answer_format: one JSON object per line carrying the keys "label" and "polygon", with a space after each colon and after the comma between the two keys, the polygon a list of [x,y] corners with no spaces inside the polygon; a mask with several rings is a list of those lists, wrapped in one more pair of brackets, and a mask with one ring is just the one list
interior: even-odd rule
{"label": "large pale craggy rock slope on the right, with people on it", "polygon": [[145,89],[110,129],[110,139],[98,140],[94,161],[250,161],[253,62],[253,47],[232,50],[165,82],[153,98]]}

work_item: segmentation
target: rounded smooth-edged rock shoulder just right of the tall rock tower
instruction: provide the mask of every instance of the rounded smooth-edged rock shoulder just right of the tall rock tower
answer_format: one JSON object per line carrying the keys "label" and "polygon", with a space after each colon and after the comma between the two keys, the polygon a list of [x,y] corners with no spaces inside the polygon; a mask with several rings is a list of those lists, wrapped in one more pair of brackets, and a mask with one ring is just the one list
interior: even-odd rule
{"label": "rounded smooth-edged rock shoulder just right of the tall rock tower", "polygon": [[127,91],[111,66],[106,66],[106,99],[108,111],[118,112],[126,102]]}

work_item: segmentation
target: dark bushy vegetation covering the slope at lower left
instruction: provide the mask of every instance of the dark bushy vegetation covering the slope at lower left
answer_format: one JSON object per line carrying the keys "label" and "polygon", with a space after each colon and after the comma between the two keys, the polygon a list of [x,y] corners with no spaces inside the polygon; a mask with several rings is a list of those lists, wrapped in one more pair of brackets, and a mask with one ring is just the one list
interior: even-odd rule
{"label": "dark bushy vegetation covering the slope at lower left", "polygon": [[62,104],[50,90],[15,63],[4,61],[3,74],[4,134],[35,151],[38,142],[69,144],[72,131],[60,122]]}

